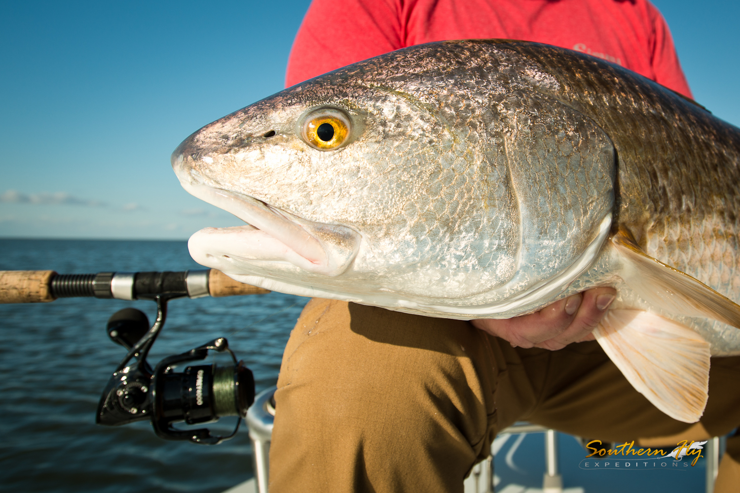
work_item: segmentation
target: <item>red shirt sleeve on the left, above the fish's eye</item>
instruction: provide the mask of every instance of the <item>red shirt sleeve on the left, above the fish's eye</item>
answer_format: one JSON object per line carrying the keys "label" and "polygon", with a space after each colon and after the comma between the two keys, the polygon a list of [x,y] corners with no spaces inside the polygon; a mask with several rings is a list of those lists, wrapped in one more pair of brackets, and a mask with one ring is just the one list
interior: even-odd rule
{"label": "red shirt sleeve on the left, above the fish's eye", "polygon": [[313,0],[293,41],[286,86],[403,48],[399,0]]}

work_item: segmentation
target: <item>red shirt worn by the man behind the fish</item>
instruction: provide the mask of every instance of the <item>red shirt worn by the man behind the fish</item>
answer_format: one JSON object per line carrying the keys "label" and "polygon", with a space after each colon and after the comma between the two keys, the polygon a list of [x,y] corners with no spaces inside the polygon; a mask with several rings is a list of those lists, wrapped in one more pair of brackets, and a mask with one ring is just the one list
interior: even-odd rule
{"label": "red shirt worn by the man behind the fish", "polygon": [[668,26],[647,0],[313,0],[286,85],[414,44],[474,38],[586,52],[691,97]]}

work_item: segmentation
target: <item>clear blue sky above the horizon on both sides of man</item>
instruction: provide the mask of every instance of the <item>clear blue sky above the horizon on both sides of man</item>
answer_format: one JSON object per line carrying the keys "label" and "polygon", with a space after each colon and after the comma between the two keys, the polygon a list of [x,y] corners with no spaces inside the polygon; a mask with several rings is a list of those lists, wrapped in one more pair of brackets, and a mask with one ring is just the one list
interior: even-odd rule
{"label": "clear blue sky above the horizon on both sides of man", "polygon": [[[653,3],[696,100],[740,125],[738,2]],[[283,88],[308,6],[0,2],[0,237],[186,239],[238,224],[182,190],[169,154]]]}

